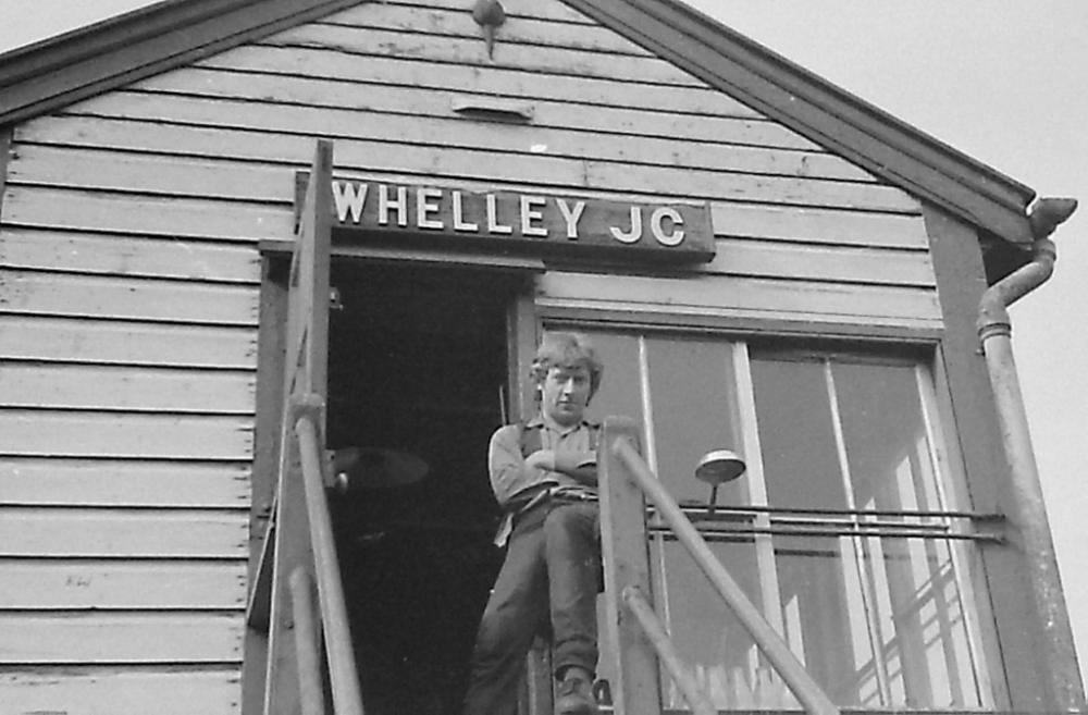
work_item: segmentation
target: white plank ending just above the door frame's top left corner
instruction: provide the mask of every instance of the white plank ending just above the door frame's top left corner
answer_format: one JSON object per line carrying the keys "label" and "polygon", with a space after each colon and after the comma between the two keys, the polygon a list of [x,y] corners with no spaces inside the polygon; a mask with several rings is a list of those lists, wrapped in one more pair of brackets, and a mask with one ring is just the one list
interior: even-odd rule
{"label": "white plank ending just above the door frame's top left corner", "polygon": [[4,225],[257,242],[290,236],[290,206],[12,186]]}

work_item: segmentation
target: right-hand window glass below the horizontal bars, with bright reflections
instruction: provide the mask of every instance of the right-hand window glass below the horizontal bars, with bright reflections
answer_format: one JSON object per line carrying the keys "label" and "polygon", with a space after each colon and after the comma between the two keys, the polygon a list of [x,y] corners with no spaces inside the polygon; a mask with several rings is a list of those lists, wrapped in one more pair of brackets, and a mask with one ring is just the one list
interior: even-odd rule
{"label": "right-hand window glass below the horizontal bars, with bright reflections", "polygon": [[981,705],[947,542],[777,537],[775,553],[787,640],[836,704]]}

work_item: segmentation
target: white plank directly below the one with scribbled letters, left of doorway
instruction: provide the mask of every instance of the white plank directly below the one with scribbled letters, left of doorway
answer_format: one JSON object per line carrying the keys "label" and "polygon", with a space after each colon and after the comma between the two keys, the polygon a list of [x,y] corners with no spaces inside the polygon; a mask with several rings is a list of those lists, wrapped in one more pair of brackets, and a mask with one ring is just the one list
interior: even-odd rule
{"label": "white plank directly below the one with scribbled letters, left of doorway", "polygon": [[240,663],[240,615],[0,614],[0,663]]}

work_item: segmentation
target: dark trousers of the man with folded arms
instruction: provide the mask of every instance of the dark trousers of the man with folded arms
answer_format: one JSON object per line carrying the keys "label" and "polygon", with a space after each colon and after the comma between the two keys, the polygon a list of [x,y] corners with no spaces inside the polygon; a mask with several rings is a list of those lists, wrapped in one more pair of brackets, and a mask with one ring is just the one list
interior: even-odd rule
{"label": "dark trousers of the man with folded arms", "polygon": [[508,715],[533,638],[548,625],[553,670],[597,667],[601,537],[595,502],[552,500],[521,515],[484,609],[465,715]]}

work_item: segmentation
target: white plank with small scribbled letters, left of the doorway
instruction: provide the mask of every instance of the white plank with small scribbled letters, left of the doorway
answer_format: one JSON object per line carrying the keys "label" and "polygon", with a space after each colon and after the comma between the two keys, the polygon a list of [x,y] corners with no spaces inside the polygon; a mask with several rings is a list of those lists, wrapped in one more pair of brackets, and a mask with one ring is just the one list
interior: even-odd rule
{"label": "white plank with small scribbled letters, left of the doorway", "polygon": [[245,600],[240,560],[0,560],[0,611],[228,611]]}

